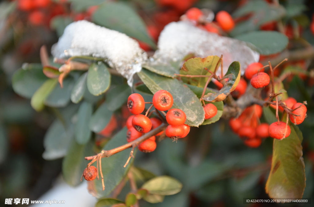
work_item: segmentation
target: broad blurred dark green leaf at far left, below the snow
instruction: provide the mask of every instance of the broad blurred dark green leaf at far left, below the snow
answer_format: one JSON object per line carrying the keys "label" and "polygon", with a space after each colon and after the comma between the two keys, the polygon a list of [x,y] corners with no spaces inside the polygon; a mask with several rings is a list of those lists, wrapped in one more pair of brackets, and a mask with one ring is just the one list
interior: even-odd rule
{"label": "broad blurred dark green leaf at far left, below the snow", "polygon": [[12,87],[14,92],[20,96],[32,98],[36,90],[47,79],[42,72],[41,64],[25,64],[13,74]]}

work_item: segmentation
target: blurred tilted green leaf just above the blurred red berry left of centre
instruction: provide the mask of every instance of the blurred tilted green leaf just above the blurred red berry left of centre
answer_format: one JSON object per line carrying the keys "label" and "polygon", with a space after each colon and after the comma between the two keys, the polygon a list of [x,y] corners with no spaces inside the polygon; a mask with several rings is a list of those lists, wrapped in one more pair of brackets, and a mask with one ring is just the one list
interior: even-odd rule
{"label": "blurred tilted green leaf just above the blurred red berry left of centre", "polygon": [[113,112],[108,109],[107,103],[102,103],[90,118],[89,129],[96,133],[100,132],[107,126],[112,114]]}

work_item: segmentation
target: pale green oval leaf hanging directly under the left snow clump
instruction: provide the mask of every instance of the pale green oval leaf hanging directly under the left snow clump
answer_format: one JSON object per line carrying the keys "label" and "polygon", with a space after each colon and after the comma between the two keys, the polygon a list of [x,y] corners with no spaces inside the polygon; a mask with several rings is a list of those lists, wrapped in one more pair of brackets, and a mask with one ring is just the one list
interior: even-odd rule
{"label": "pale green oval leaf hanging directly under the left snow clump", "polygon": [[87,88],[94,96],[105,93],[110,86],[111,75],[102,62],[92,63],[88,69]]}

